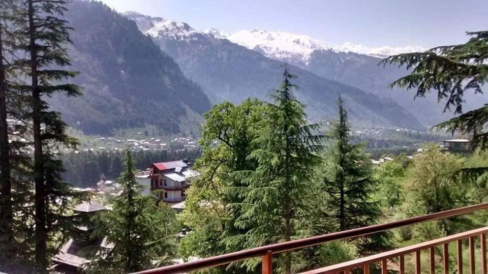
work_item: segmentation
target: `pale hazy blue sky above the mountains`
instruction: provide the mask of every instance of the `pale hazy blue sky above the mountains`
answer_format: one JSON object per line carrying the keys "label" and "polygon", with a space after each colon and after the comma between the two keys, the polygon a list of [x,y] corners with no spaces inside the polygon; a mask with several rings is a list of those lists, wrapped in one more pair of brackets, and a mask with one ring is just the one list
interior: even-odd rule
{"label": "pale hazy blue sky above the mountains", "polygon": [[488,0],[102,0],[118,11],[184,21],[228,33],[261,28],[329,44],[433,47],[488,29]]}

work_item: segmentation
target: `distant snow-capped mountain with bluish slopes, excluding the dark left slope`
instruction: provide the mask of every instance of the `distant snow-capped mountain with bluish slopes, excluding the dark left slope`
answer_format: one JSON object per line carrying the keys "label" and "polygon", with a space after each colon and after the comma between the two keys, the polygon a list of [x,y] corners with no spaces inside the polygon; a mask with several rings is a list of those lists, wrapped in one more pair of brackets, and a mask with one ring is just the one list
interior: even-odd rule
{"label": "distant snow-capped mountain with bluish slopes, excluding the dark left slope", "polygon": [[[198,82],[214,101],[229,100],[240,102],[244,98],[266,98],[263,90],[274,88],[279,82],[275,76],[280,75],[280,64],[288,63],[293,67],[301,83],[301,98],[308,105],[310,113],[315,116],[326,116],[330,107],[323,100],[334,102],[335,99],[322,98],[333,91],[346,96],[346,83],[361,91],[357,94],[364,96],[351,99],[358,105],[373,107],[375,111],[385,113],[356,115],[357,120],[372,120],[374,124],[396,125],[411,121],[411,125],[402,125],[407,128],[416,128],[418,120],[415,117],[406,118],[410,111],[416,114],[425,125],[438,123],[442,113],[442,106],[433,107],[433,102],[413,101],[408,93],[393,93],[388,84],[405,75],[405,71],[395,66],[379,67],[381,57],[423,50],[421,47],[379,47],[369,48],[364,45],[345,43],[343,45],[330,45],[324,41],[306,35],[294,35],[283,32],[267,32],[255,29],[253,31],[240,31],[228,34],[216,28],[199,31],[187,23],[149,17],[140,14],[126,14],[134,20],[142,33],[150,35],[160,48],[168,53],[179,65],[187,77]],[[267,58],[266,58],[267,57]],[[378,58],[380,57],[380,58]],[[236,64],[238,64],[236,66]],[[301,70],[299,70],[301,69]],[[311,72],[319,78],[308,74]],[[275,75],[276,74],[276,75]],[[326,80],[337,81],[338,84],[322,82]],[[277,81],[273,83],[273,81]],[[372,96],[371,98],[366,96]],[[380,97],[376,97],[380,96]],[[393,103],[382,102],[382,97],[392,99],[400,106],[388,105]],[[322,99],[319,99],[322,98]],[[374,98],[374,100],[373,100]],[[380,99],[381,98],[381,99]],[[373,100],[370,102],[368,100]],[[389,100],[388,99],[388,100]],[[370,103],[366,103],[366,102]],[[381,106],[380,106],[380,105]],[[408,109],[408,110],[407,110]],[[390,112],[391,111],[391,112]],[[359,112],[358,112],[359,113]],[[393,121],[380,121],[388,116]],[[351,113],[352,115],[352,113]],[[363,117],[368,116],[368,117]],[[374,120],[374,119],[373,119]],[[417,124],[417,126],[415,126]]]}

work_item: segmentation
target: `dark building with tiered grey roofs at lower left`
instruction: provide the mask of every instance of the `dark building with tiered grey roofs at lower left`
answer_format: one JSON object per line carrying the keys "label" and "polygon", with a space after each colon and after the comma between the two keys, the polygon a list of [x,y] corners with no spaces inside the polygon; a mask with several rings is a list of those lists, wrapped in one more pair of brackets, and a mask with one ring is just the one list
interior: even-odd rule
{"label": "dark building with tiered grey roofs at lower left", "polygon": [[[72,238],[54,255],[54,270],[60,273],[80,273],[90,262],[87,250],[112,249],[106,239],[92,238],[95,224],[90,220],[95,214],[108,208],[95,201],[86,201],[73,208],[73,218],[78,224]],[[96,249],[96,250],[94,250]]]}

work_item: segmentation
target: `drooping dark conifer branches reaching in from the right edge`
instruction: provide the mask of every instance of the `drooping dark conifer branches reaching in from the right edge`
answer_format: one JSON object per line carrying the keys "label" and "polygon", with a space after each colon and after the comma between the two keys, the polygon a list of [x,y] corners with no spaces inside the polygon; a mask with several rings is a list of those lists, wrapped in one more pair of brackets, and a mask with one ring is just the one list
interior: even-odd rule
{"label": "drooping dark conifer branches reaching in from the right edge", "polygon": [[[471,39],[460,45],[440,46],[425,52],[390,56],[380,64],[398,64],[414,68],[410,75],[390,84],[407,89],[415,88],[415,97],[424,97],[436,90],[440,100],[447,100],[445,109],[455,107],[454,114],[462,113],[466,92],[482,93],[481,87],[488,80],[488,31],[467,33]],[[488,106],[468,111],[436,126],[454,133],[462,130],[474,133],[473,145],[488,147]]]}

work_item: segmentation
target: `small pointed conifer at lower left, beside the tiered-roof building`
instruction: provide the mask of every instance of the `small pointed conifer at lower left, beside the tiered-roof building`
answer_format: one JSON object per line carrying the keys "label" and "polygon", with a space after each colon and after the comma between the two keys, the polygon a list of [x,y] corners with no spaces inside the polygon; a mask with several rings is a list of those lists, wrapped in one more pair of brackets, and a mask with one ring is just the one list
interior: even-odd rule
{"label": "small pointed conifer at lower left, beside the tiered-roof building", "polygon": [[134,166],[127,150],[124,171],[117,179],[123,191],[113,210],[100,216],[94,231],[94,236],[106,237],[114,247],[94,254],[90,272],[135,272],[169,264],[175,258],[179,226],[174,211],[165,203],[158,207],[154,197],[141,194]]}

